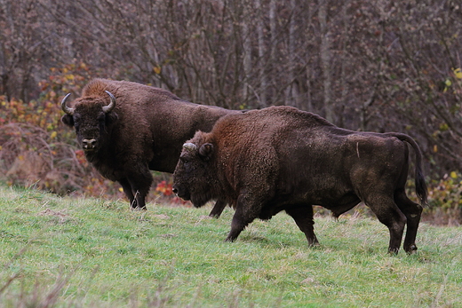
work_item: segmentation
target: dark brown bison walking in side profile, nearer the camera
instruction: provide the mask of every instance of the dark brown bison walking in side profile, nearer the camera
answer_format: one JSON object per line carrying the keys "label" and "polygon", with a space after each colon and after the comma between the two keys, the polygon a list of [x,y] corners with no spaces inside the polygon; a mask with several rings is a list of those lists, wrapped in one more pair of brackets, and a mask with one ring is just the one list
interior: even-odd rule
{"label": "dark brown bison walking in side profile, nearer the camera", "polygon": [[411,253],[422,207],[405,193],[406,143],[416,154],[416,191],[425,203],[421,152],[407,135],[344,130],[294,107],[227,115],[183,145],[173,191],[195,207],[226,198],[235,207],[227,241],[255,218],[285,210],[314,245],[312,205],[339,216],[363,201],[388,227],[390,252],[398,252],[408,225],[403,247]]}

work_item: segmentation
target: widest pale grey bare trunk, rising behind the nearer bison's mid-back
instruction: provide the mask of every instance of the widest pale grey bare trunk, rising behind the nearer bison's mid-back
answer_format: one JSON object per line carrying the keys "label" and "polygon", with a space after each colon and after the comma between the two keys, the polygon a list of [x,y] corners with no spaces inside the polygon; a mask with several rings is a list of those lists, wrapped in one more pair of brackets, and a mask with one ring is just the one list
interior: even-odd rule
{"label": "widest pale grey bare trunk, rising behind the nearer bison's mid-back", "polygon": [[332,81],[331,81],[331,41],[330,31],[327,27],[327,4],[328,0],[319,1],[318,19],[321,30],[321,67],[323,68],[324,87],[324,110],[327,121],[334,122],[334,107],[332,104]]}

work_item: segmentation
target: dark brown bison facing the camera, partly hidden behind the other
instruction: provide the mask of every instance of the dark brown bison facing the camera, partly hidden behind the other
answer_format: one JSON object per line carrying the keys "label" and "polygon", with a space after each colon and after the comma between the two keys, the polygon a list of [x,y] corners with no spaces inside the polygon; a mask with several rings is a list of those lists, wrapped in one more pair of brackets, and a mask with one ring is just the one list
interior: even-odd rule
{"label": "dark brown bison facing the camera, partly hidden behind the other", "polygon": [[[140,209],[146,209],[153,182],[149,170],[172,173],[181,146],[195,130],[210,131],[219,117],[238,113],[189,103],[147,85],[105,79],[88,83],[69,106],[68,96],[61,102],[66,113],[61,121],[76,129],[88,162],[119,182],[131,207]],[[211,216],[219,216],[225,206],[219,200]]]}

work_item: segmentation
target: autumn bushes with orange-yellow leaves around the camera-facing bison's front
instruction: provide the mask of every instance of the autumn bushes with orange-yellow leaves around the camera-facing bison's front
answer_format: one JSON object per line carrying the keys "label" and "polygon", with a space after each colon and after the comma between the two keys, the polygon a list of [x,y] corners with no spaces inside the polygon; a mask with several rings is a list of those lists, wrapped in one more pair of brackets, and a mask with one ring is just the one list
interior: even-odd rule
{"label": "autumn bushes with orange-yellow leaves around the camera-facing bison's front", "polygon": [[[28,103],[0,96],[0,180],[12,186],[35,186],[58,194],[109,195],[123,198],[123,190],[100,176],[76,144],[74,130],[60,122],[60,100],[77,97],[92,79],[84,63],[52,68],[39,83],[38,99]],[[171,192],[171,176],[155,172],[149,199],[185,204]]]}

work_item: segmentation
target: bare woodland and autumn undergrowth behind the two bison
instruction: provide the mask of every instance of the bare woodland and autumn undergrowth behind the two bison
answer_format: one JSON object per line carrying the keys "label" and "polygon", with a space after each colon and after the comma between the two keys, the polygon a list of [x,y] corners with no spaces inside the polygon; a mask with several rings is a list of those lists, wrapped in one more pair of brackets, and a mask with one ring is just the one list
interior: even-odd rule
{"label": "bare woodland and autumn undergrowth behind the two bison", "polygon": [[[60,99],[104,77],[407,133],[425,156],[427,213],[459,225],[461,31],[455,0],[0,0],[0,180],[122,197],[60,123]],[[179,202],[155,177],[151,197]]]}

